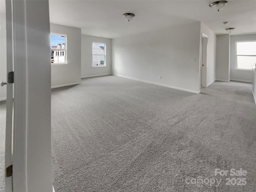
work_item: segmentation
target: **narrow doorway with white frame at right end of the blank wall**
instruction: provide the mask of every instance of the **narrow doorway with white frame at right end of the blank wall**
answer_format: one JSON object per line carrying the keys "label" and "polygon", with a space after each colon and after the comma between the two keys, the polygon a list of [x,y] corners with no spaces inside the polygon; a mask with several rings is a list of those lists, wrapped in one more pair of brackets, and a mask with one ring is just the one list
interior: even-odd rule
{"label": "narrow doorway with white frame at right end of the blank wall", "polygon": [[207,44],[208,36],[202,33],[201,39],[201,88],[207,86]]}

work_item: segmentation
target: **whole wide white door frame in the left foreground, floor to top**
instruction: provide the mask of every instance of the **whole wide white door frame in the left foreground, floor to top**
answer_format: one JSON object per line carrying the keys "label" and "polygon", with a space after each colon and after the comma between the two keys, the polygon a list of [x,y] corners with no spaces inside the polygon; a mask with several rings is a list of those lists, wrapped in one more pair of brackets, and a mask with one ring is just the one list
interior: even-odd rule
{"label": "whole wide white door frame in the left foreground, floor to top", "polygon": [[49,3],[7,1],[12,2],[15,72],[13,192],[52,192]]}

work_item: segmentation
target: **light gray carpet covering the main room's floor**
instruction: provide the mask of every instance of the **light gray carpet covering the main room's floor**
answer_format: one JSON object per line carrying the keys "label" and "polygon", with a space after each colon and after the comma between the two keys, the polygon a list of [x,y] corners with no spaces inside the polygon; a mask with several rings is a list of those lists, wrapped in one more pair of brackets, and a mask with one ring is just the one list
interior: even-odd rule
{"label": "light gray carpet covering the main room's floor", "polygon": [[[251,90],[214,82],[192,94],[117,76],[53,89],[56,192],[255,192]],[[215,168],[247,175],[215,176]],[[200,176],[202,186],[186,183]],[[213,178],[220,186],[207,184]],[[247,184],[226,186],[226,178]]]}

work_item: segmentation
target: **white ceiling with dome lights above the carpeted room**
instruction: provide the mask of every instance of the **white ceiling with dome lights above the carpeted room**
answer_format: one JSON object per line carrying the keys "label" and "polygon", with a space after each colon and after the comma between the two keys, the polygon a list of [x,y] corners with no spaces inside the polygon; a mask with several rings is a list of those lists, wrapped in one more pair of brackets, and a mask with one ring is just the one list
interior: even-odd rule
{"label": "white ceiling with dome lights above the carpeted room", "polygon": [[[215,0],[49,0],[50,22],[82,29],[82,34],[118,38],[194,21],[216,34],[256,33],[256,0],[228,0],[220,10]],[[133,13],[130,22],[124,13]],[[229,22],[224,25],[223,22]]]}

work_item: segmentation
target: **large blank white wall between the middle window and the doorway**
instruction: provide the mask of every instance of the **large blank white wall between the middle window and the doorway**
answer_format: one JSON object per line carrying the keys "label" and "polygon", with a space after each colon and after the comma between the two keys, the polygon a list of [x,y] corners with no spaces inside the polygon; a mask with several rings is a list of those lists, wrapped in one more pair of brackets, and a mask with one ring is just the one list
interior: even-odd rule
{"label": "large blank white wall between the middle window and the doorway", "polygon": [[200,28],[192,22],[113,39],[112,73],[198,93]]}

